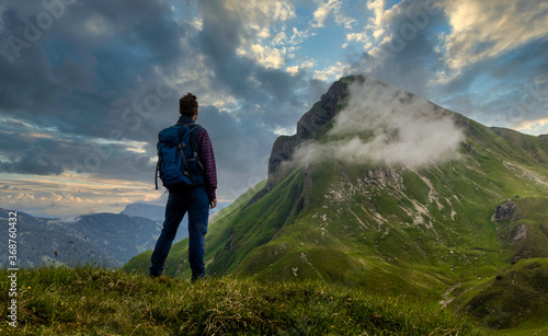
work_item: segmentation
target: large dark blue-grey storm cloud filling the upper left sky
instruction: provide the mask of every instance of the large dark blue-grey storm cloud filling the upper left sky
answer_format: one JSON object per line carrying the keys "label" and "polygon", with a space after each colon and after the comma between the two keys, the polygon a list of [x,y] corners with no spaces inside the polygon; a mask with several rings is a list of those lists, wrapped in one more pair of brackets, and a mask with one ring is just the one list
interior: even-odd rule
{"label": "large dark blue-grey storm cloud filling the upper left sky", "polygon": [[[35,121],[68,118],[73,131],[88,132],[88,125],[107,116],[111,101],[157,80],[155,67],[169,68],[182,54],[184,32],[165,2],[78,1],[47,30],[36,25],[43,13],[42,1],[8,1],[2,13],[2,50],[12,54],[0,58],[4,113]],[[27,40],[30,27],[39,38],[16,57],[10,38]]]}

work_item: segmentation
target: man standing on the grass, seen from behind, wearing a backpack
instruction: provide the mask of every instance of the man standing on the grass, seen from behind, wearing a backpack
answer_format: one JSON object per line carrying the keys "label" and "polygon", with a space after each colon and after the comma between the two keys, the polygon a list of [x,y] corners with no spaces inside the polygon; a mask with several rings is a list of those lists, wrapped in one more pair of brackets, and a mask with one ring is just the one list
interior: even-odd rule
{"label": "man standing on the grass, seen from behind, wearing a backpack", "polygon": [[[189,212],[189,262],[192,269],[192,281],[195,281],[205,277],[204,236],[207,233],[209,209],[214,209],[217,206],[217,198],[215,196],[215,190],[217,188],[217,171],[209,136],[205,128],[194,123],[198,117],[198,102],[194,94],[187,93],[179,100],[179,113],[181,116],[178,123],[173,127],[162,130],[159,135],[159,163],[157,175],[159,170],[160,177],[164,186],[169,189],[169,198],[165,206],[163,229],[156,243],[155,252],[150,259],[152,266],[150,266],[149,271],[151,277],[158,277],[163,274],[163,265],[170,252],[171,244],[175,239],[179,224],[184,215]],[[185,125],[187,125],[189,128],[181,127]],[[162,169],[164,167],[161,165],[161,161],[163,159],[163,163],[167,165],[170,158],[180,158],[180,155],[178,153],[170,158],[161,158],[160,144],[164,134],[172,130],[172,132],[174,131],[179,137],[183,131],[180,129],[190,132],[190,138],[187,138],[187,140],[194,154],[194,158],[186,159],[185,155],[182,155],[184,166],[191,171],[190,174],[183,171],[183,175],[191,177],[191,181],[193,181],[195,185],[178,189],[168,184],[165,173],[163,173],[162,176]],[[179,134],[176,131],[179,131]],[[184,146],[179,148],[181,153],[183,152],[183,147]],[[171,148],[173,148],[173,144],[171,144]],[[176,173],[181,175],[181,169],[178,169]]]}

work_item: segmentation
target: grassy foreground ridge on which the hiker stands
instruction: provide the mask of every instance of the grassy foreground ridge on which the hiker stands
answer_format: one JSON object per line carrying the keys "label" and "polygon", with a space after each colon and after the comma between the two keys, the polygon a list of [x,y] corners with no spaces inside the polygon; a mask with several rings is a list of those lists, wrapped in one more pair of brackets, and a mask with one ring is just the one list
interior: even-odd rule
{"label": "grassy foreground ridge on which the hiker stands", "polygon": [[[8,273],[0,271],[5,278]],[[2,302],[8,302],[2,281]],[[484,335],[437,304],[349,287],[209,278],[191,283],[80,266],[23,269],[10,335]]]}

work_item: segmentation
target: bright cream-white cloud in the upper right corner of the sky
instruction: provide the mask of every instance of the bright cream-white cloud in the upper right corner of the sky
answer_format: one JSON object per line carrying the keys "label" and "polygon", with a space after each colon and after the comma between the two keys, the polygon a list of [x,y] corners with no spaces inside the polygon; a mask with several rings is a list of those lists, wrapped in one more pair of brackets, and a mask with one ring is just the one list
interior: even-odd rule
{"label": "bright cream-white cloud in the upper right corner of the sky", "polygon": [[[536,39],[548,39],[548,2],[537,0],[444,0],[450,32],[441,36],[454,76]],[[444,73],[439,73],[443,79]]]}

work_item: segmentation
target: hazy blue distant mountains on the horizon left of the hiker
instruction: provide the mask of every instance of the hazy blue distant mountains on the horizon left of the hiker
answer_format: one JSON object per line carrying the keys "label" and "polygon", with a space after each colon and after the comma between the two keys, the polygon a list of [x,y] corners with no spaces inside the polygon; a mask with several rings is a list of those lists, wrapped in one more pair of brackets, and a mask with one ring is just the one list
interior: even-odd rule
{"label": "hazy blue distant mountains on the horizon left of the hiker", "polygon": [[[121,213],[83,215],[71,220],[18,212],[19,266],[91,262],[121,267],[136,254],[153,248],[161,232],[163,209],[160,206],[129,205]],[[5,222],[4,227],[8,212],[0,209],[0,222]],[[181,224],[175,241],[187,236],[185,223]],[[0,265],[5,266],[8,241],[2,241],[0,246]]]}

